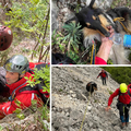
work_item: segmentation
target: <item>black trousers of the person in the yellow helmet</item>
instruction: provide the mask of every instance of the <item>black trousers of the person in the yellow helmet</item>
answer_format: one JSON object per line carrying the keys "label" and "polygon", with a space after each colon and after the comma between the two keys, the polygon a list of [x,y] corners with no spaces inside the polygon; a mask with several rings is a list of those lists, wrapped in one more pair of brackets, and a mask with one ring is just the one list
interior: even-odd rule
{"label": "black trousers of the person in the yellow helmet", "polygon": [[121,122],[129,122],[130,104],[124,105],[124,104],[118,102],[117,108],[119,109]]}

